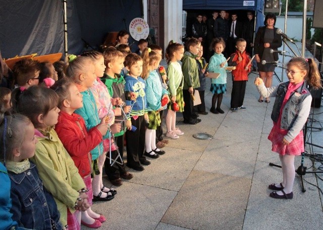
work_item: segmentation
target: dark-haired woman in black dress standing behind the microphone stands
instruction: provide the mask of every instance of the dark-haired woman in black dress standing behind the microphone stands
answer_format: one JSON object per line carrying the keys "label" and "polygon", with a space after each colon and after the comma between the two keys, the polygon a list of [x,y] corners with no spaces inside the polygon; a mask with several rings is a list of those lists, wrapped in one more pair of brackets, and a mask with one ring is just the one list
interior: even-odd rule
{"label": "dark-haired woman in black dress standing behind the microphone stands", "polygon": [[[277,51],[283,44],[281,35],[276,33],[277,28],[274,27],[275,23],[276,15],[268,13],[264,19],[265,26],[259,27],[254,39],[254,54],[255,60],[257,61],[259,77],[263,80],[267,88],[272,86],[275,65],[273,63],[263,65],[261,61],[278,61],[278,53],[271,53],[270,51]],[[260,96],[258,102],[263,102],[262,96]],[[265,102],[270,103],[270,100],[266,98]]]}

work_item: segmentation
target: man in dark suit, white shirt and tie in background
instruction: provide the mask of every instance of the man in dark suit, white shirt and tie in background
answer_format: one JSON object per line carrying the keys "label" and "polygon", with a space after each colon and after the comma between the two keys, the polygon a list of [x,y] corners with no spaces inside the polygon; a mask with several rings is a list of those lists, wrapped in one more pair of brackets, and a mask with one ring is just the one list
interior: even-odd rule
{"label": "man in dark suit, white shirt and tie in background", "polygon": [[237,14],[233,13],[231,15],[231,23],[230,26],[230,35],[228,37],[227,48],[229,56],[236,51],[236,41],[238,38],[242,38],[243,33],[243,23],[237,21]]}

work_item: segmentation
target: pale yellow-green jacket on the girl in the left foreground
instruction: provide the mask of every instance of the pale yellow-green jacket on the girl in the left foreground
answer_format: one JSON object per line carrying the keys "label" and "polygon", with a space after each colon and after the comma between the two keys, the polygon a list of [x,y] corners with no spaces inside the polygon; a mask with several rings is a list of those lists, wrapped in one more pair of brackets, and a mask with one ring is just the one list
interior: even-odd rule
{"label": "pale yellow-green jacket on the girl in the left foreground", "polygon": [[35,130],[38,142],[35,155],[31,160],[36,164],[43,185],[55,198],[61,213],[61,222],[67,224],[67,208],[71,213],[75,210],[78,191],[85,188],[74,161],[67,153],[56,131]]}

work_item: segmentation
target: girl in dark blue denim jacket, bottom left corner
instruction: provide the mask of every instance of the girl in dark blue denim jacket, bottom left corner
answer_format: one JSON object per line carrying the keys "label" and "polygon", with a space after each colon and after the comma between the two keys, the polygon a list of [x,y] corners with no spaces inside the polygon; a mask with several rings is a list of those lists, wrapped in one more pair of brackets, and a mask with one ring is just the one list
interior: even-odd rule
{"label": "girl in dark blue denim jacket, bottom left corner", "polygon": [[43,188],[37,168],[29,161],[37,143],[33,124],[21,114],[3,115],[0,114],[0,141],[4,144],[0,160],[11,180],[12,219],[20,229],[63,229],[55,200]]}

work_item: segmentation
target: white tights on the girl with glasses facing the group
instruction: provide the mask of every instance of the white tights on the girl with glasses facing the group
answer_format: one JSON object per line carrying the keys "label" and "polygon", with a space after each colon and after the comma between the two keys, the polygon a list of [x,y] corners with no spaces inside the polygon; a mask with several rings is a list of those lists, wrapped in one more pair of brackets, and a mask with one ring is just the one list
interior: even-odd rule
{"label": "white tights on the girl with glasses facing the group", "polygon": [[[289,194],[293,191],[294,179],[295,179],[295,166],[294,155],[279,155],[279,159],[282,162],[284,192]],[[280,185],[277,185],[280,187]],[[283,192],[277,191],[278,195],[283,195]]]}

